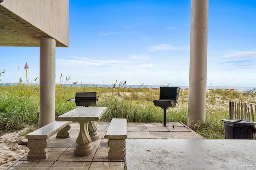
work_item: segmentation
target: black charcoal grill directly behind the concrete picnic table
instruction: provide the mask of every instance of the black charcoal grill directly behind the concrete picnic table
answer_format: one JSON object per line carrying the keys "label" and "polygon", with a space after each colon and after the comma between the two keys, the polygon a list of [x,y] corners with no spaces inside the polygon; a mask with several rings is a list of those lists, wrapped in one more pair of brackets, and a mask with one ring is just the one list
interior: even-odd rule
{"label": "black charcoal grill directly behind the concrete picnic table", "polygon": [[96,106],[98,97],[97,92],[76,92],[76,98],[68,101],[75,101],[76,106]]}

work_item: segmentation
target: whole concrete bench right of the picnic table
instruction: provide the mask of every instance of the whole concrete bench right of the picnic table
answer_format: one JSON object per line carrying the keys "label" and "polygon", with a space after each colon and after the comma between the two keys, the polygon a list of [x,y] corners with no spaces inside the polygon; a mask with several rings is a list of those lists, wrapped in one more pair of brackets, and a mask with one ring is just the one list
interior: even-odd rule
{"label": "whole concrete bench right of the picnic table", "polygon": [[124,143],[127,139],[127,120],[112,119],[104,136],[108,139],[108,159],[124,159]]}

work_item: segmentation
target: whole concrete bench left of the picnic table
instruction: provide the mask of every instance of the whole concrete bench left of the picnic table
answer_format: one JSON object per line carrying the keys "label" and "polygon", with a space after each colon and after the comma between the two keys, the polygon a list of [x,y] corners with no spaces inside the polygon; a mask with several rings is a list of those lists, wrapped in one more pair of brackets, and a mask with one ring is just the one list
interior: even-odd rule
{"label": "whole concrete bench left of the picnic table", "polygon": [[57,138],[69,138],[71,122],[72,121],[53,121],[26,135],[26,139],[28,139],[27,147],[30,149],[27,158],[47,159],[49,154],[47,147],[50,144],[49,138],[57,132]]}

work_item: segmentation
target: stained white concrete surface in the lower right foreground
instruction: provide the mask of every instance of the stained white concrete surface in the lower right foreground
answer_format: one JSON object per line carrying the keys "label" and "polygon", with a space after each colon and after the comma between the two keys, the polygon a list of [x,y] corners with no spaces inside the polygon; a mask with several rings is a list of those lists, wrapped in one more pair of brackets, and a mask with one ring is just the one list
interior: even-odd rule
{"label": "stained white concrete surface in the lower right foreground", "polygon": [[126,139],[124,169],[254,169],[255,144],[255,140]]}

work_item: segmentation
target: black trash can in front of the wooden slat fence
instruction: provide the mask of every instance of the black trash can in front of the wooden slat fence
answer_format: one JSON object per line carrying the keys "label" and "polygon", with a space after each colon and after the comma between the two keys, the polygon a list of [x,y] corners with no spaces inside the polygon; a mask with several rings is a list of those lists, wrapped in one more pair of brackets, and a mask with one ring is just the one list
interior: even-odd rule
{"label": "black trash can in front of the wooden slat fence", "polygon": [[238,120],[238,119],[223,119],[225,127],[225,139],[253,139],[253,134],[256,133],[256,122]]}

